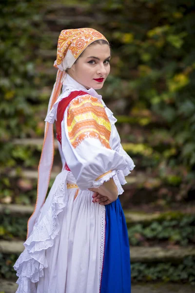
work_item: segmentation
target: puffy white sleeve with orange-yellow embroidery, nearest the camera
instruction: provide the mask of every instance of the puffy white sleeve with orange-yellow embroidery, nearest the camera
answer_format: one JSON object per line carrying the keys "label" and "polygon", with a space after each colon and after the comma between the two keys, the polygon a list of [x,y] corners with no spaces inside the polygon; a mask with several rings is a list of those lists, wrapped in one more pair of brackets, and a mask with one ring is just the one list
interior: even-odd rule
{"label": "puffy white sleeve with orange-yellow embroidery, nearest the camera", "polygon": [[97,188],[128,167],[110,139],[111,124],[101,102],[88,94],[72,100],[61,122],[61,146],[80,189]]}

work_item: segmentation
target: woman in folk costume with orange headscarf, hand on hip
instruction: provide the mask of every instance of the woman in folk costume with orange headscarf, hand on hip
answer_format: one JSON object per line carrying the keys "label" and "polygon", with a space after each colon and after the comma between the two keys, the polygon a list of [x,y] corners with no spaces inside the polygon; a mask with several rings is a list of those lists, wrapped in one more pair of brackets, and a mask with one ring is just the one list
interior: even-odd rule
{"label": "woman in folk costume with orange headscarf, hand on hip", "polygon": [[[135,165],[120,144],[117,119],[96,92],[110,72],[110,58],[109,42],[95,29],[61,31],[36,207],[14,265],[17,293],[131,292],[129,242],[118,195]],[[54,122],[63,167],[45,200]]]}

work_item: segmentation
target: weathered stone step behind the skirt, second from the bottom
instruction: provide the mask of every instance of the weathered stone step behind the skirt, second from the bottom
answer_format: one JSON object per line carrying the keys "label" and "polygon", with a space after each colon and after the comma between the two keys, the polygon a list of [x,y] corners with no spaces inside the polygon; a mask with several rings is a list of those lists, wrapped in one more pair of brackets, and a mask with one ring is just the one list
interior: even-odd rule
{"label": "weathered stone step behind the skirt, second from the bottom", "polygon": [[[0,252],[4,254],[21,253],[24,241],[0,240]],[[178,263],[186,256],[195,256],[195,247],[176,247],[174,249],[161,247],[131,247],[131,262],[168,262]]]}

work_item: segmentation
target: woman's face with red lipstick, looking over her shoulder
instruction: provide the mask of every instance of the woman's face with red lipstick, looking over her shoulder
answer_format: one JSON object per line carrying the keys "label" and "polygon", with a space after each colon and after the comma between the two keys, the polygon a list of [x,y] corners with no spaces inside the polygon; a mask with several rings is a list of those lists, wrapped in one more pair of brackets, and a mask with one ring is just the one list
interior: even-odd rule
{"label": "woman's face with red lipstick, looking over her shoulder", "polygon": [[[87,89],[102,88],[110,73],[110,47],[107,44],[88,46],[77,62],[68,70],[68,74]],[[102,78],[102,81],[95,79]]]}

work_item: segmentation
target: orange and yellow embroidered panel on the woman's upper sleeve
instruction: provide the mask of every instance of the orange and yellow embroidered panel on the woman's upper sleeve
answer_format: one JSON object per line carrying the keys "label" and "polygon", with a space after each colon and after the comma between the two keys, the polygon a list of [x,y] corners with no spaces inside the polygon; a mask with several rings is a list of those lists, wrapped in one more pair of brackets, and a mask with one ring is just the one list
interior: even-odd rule
{"label": "orange and yellow embroidered panel on the woman's upper sleeve", "polygon": [[96,138],[102,146],[110,148],[111,124],[104,106],[90,95],[71,101],[67,115],[68,135],[76,148],[84,139]]}

